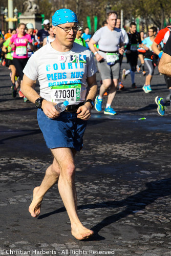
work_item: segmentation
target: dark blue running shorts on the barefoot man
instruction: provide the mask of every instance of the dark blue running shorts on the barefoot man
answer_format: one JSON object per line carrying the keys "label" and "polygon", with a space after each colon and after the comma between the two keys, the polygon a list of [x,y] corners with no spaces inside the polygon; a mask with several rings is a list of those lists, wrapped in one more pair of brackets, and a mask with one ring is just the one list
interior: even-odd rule
{"label": "dark blue running shorts on the barefoot man", "polygon": [[81,150],[87,121],[77,118],[76,111],[63,111],[59,117],[51,119],[38,109],[37,120],[49,148],[72,147],[76,151]]}

